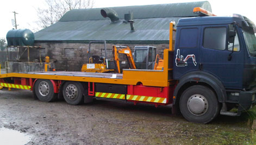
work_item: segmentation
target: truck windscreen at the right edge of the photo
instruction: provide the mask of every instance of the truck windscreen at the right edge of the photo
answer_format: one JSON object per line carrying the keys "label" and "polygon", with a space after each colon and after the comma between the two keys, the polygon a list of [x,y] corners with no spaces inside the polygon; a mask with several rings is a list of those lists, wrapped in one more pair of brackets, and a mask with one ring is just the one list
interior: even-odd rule
{"label": "truck windscreen at the right edge of the photo", "polygon": [[252,56],[256,56],[256,36],[253,29],[246,29],[244,30],[243,34],[245,36],[245,41],[246,41],[249,53]]}

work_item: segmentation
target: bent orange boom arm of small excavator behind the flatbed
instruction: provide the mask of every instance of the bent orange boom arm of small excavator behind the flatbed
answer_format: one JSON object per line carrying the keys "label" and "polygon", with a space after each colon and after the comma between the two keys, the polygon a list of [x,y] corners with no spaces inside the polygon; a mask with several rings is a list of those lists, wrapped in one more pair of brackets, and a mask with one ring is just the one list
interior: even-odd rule
{"label": "bent orange boom arm of small excavator behind the flatbed", "polygon": [[[118,48],[118,49],[117,49]],[[130,69],[136,69],[134,60],[133,60],[133,55],[132,55],[132,51],[130,50],[129,47],[124,47],[124,46],[113,46],[113,56],[114,56],[114,61],[115,61],[115,65],[116,65],[116,71],[117,73],[121,73],[121,69],[120,69],[120,62],[119,62],[119,57],[118,54],[125,54],[127,57],[127,60],[129,61],[129,68]]]}

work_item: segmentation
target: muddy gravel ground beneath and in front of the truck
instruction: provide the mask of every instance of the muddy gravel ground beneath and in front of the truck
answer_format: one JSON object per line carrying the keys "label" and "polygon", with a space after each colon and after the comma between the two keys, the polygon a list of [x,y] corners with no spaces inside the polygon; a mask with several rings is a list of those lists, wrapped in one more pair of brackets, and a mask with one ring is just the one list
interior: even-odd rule
{"label": "muddy gravel ground beneath and in front of the truck", "polygon": [[[247,115],[209,124],[172,116],[171,106],[95,101],[80,106],[0,90],[0,128],[32,136],[28,144],[254,144]],[[14,136],[15,139],[15,136]]]}

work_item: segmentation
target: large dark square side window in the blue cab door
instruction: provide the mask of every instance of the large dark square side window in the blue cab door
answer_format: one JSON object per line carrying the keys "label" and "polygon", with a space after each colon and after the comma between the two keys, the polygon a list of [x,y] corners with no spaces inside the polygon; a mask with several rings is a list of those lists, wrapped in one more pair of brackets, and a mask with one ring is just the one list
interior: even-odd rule
{"label": "large dark square side window in the blue cab door", "polygon": [[217,50],[224,50],[226,49],[226,38],[227,38],[226,36],[227,36],[226,27],[205,28],[203,47],[217,49]]}

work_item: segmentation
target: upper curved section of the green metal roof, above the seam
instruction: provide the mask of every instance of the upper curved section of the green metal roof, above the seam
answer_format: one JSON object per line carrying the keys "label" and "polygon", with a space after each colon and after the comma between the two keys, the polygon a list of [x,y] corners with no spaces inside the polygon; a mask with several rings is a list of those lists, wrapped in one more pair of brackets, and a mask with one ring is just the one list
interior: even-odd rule
{"label": "upper curved section of the green metal roof, above the seam", "polygon": [[[119,18],[124,19],[124,14],[133,12],[134,18],[159,18],[159,17],[190,17],[197,16],[193,14],[193,8],[201,7],[211,11],[210,3],[190,2],[190,3],[171,3],[171,4],[153,4],[153,5],[135,5],[135,6],[119,6],[111,7],[115,10]],[[89,21],[103,20],[101,16],[102,8],[95,9],[74,9],[68,11],[60,21]]]}

